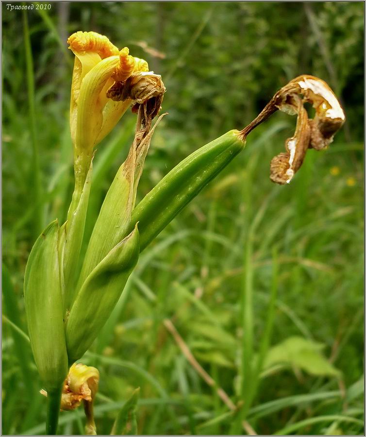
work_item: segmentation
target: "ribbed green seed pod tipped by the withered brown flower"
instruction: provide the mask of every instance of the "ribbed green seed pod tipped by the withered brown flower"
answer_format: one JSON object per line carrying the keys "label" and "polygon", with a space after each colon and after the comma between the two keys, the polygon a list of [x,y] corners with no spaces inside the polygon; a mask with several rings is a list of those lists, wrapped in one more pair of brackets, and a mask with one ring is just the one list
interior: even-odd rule
{"label": "ribbed green seed pod tipped by the withered brown flower", "polygon": [[141,251],[244,147],[240,132],[229,131],[185,158],[144,197],[130,225],[139,223]]}

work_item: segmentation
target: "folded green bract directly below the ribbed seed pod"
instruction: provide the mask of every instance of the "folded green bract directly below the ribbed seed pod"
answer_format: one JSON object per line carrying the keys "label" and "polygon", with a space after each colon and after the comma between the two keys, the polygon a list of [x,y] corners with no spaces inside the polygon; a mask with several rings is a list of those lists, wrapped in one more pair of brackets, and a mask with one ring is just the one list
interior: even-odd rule
{"label": "folded green bract directly below the ribbed seed pod", "polygon": [[140,253],[137,225],[88,275],[66,322],[69,364],[89,349],[115,307]]}

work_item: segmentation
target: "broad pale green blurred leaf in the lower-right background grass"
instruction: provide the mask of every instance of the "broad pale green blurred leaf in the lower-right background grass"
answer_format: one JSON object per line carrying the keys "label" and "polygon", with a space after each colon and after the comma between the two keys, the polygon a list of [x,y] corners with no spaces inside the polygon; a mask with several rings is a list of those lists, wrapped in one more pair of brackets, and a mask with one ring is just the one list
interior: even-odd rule
{"label": "broad pale green blurred leaf in the lower-right background grass", "polygon": [[287,364],[312,375],[339,376],[339,370],[320,352],[323,345],[299,336],[292,336],[269,349],[265,368],[274,364]]}

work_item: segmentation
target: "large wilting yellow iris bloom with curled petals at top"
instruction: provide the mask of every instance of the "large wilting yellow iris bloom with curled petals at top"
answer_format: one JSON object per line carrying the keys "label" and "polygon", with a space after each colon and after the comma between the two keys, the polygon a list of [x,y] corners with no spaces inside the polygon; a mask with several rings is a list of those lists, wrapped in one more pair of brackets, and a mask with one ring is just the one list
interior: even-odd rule
{"label": "large wilting yellow iris bloom with curled petals at top", "polygon": [[132,100],[112,101],[106,93],[132,73],[149,71],[146,61],[134,58],[127,47],[118,50],[95,32],[76,32],[67,43],[75,54],[71,85],[70,129],[77,153],[91,156],[93,148],[113,129]]}

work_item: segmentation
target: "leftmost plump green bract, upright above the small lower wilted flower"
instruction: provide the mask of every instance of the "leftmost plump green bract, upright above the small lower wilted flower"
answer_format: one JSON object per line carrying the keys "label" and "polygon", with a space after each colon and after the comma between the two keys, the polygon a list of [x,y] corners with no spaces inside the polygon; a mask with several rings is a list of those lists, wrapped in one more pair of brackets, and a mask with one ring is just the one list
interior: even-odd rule
{"label": "leftmost plump green bract, upright above the small lower wilted flower", "polygon": [[47,391],[59,389],[67,375],[58,253],[57,220],[36,240],[24,277],[28,331],[34,360]]}

